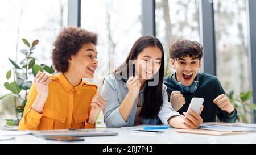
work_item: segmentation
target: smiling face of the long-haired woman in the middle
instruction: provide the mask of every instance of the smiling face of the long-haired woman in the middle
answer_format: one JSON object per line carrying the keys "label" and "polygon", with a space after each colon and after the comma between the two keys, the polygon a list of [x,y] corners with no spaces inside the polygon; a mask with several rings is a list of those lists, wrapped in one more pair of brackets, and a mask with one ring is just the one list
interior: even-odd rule
{"label": "smiling face of the long-haired woman in the middle", "polygon": [[158,47],[146,47],[134,60],[135,75],[139,79],[151,79],[161,66],[162,52]]}

